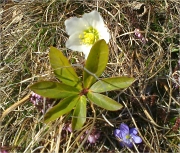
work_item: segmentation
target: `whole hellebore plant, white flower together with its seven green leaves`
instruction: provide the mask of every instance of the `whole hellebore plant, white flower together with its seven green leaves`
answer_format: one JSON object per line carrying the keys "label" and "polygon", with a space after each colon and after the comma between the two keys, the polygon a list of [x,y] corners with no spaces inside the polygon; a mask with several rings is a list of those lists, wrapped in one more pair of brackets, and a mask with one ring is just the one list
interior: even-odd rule
{"label": "whole hellebore plant, white flower together with its seven green leaves", "polygon": [[107,43],[110,34],[97,11],[85,13],[82,18],[70,18],[65,21],[65,26],[70,35],[66,47],[83,52],[87,59],[83,68],[83,79],[78,77],[62,52],[51,47],[50,64],[60,82],[41,81],[30,88],[43,97],[61,99],[45,114],[46,123],[73,110],[72,130],[78,130],[86,121],[87,102],[110,111],[121,109],[123,106],[120,103],[100,93],[127,88],[132,84],[134,78],[99,78],[108,62]]}

